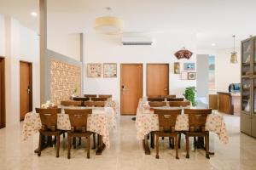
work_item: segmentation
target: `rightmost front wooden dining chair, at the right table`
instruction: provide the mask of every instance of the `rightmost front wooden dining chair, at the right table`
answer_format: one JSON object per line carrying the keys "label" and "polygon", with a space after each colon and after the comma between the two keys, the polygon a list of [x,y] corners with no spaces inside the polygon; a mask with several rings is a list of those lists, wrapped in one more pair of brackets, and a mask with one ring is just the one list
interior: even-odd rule
{"label": "rightmost front wooden dining chair, at the right table", "polygon": [[209,156],[209,132],[206,131],[207,116],[212,109],[185,109],[184,114],[189,115],[189,131],[183,132],[186,136],[186,158],[189,158],[189,137],[204,137],[206,157]]}

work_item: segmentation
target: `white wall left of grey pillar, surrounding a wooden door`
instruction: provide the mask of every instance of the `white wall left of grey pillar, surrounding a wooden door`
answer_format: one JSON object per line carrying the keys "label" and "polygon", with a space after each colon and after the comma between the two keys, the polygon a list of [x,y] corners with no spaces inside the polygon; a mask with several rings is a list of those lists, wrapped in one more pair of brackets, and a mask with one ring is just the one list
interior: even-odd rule
{"label": "white wall left of grey pillar, surrounding a wooden door", "polygon": [[32,62],[32,107],[40,104],[39,38],[11,17],[4,17],[4,35],[6,126],[10,127],[20,122],[20,60]]}

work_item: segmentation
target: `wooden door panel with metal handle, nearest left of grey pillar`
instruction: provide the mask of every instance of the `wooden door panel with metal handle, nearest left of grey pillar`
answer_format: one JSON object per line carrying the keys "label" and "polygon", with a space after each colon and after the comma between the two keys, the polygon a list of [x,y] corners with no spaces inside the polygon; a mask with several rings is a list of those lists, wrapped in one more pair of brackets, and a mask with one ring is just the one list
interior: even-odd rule
{"label": "wooden door panel with metal handle, nearest left of grey pillar", "polygon": [[32,64],[20,61],[20,121],[32,111]]}

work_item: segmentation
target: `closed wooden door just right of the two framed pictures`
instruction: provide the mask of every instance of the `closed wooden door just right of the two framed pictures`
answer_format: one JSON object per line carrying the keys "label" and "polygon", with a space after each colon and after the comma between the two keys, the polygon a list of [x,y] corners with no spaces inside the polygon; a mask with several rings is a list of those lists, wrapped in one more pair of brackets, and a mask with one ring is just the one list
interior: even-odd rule
{"label": "closed wooden door just right of the two framed pictures", "polygon": [[121,65],[121,115],[136,115],[143,97],[143,64]]}

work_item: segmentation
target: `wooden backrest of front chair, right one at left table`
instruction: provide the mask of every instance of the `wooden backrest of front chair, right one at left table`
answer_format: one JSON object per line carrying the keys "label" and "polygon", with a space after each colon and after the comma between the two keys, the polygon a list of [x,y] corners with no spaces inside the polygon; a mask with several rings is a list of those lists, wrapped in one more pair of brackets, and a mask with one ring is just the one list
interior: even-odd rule
{"label": "wooden backrest of front chair, right one at left table", "polygon": [[69,116],[71,132],[87,131],[87,117],[92,113],[91,109],[65,109],[64,111]]}

